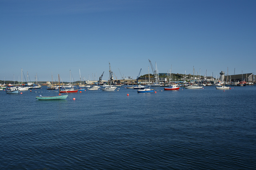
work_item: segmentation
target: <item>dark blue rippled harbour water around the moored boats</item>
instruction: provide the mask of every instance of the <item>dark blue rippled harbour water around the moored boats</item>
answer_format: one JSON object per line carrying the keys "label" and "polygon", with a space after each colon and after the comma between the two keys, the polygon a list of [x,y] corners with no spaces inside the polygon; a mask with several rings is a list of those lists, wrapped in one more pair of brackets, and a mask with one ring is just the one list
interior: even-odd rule
{"label": "dark blue rippled harbour water around the moored boats", "polygon": [[0,91],[0,169],[256,169],[256,86],[155,91]]}

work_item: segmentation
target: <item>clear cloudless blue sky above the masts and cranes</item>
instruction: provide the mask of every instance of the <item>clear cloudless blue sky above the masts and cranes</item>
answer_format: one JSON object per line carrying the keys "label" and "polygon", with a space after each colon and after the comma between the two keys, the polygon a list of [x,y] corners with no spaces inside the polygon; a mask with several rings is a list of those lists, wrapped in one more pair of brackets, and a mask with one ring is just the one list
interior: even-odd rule
{"label": "clear cloudless blue sky above the masts and cranes", "polygon": [[[256,0],[0,0],[0,80],[256,74]],[[119,70],[121,72],[119,72]],[[152,70],[150,68],[150,73]]]}

